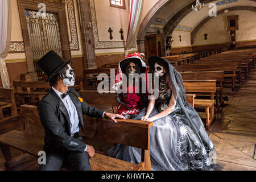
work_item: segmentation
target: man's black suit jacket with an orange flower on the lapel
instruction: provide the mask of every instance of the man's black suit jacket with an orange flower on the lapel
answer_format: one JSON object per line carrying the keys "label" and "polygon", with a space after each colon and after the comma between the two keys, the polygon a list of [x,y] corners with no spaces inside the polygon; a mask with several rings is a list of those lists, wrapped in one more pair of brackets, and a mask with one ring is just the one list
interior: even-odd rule
{"label": "man's black suit jacket with an orange flower on the lapel", "polygon": [[[79,93],[70,88],[69,96],[79,115],[79,126],[84,131],[82,115],[102,118],[104,111],[79,100]],[[53,89],[38,104],[40,121],[45,130],[44,151],[69,150],[84,152],[86,144],[71,137],[68,111]]]}

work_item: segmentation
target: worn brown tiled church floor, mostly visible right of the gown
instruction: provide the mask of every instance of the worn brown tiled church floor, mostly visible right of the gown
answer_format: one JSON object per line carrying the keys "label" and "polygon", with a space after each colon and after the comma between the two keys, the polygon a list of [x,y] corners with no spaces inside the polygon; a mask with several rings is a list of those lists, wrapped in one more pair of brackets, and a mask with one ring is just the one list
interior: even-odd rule
{"label": "worn brown tiled church floor, mostly visible right of the gown", "polygon": [[[216,147],[217,164],[222,170],[256,170],[256,69],[238,91],[224,89],[224,96],[229,97],[222,114],[213,122],[208,134]],[[105,109],[106,110],[106,109]],[[204,115],[200,113],[200,115]],[[7,126],[8,129],[3,129]],[[22,129],[20,123],[0,123],[0,134],[12,129]],[[1,130],[2,129],[2,130]],[[96,150],[106,152],[113,144],[86,139]],[[13,156],[20,154],[13,150]],[[4,170],[4,159],[0,152],[0,170]],[[16,170],[36,170],[37,160],[29,158]]]}

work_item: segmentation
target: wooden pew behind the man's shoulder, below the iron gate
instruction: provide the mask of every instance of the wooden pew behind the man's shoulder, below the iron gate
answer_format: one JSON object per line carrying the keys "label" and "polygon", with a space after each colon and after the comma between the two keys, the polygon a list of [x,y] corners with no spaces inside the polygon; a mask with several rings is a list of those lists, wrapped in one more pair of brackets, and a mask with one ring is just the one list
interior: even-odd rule
{"label": "wooden pew behind the man's shoulder, below the iron gate", "polygon": [[37,104],[40,100],[42,100],[43,96],[45,96],[49,88],[48,82],[45,81],[13,81],[14,86],[14,94],[18,95],[18,98],[21,100],[22,104],[25,104],[25,97],[30,98],[30,102],[32,103],[33,97],[38,98],[38,101],[35,101]]}

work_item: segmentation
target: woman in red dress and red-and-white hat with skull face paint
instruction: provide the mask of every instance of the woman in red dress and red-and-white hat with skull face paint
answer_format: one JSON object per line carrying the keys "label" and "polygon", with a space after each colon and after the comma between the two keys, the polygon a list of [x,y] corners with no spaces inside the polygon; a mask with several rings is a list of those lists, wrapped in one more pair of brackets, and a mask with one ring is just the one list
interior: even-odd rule
{"label": "woman in red dress and red-and-white hat with skull face paint", "polygon": [[[142,73],[144,75],[141,75]],[[141,76],[142,80],[135,81],[137,76]],[[119,103],[118,114],[132,119],[147,105],[146,92],[142,93],[142,90],[146,90],[146,80],[147,67],[142,60],[141,53],[127,55],[125,59],[120,61],[113,86],[117,91],[115,99]],[[142,89],[143,87],[144,89]]]}

